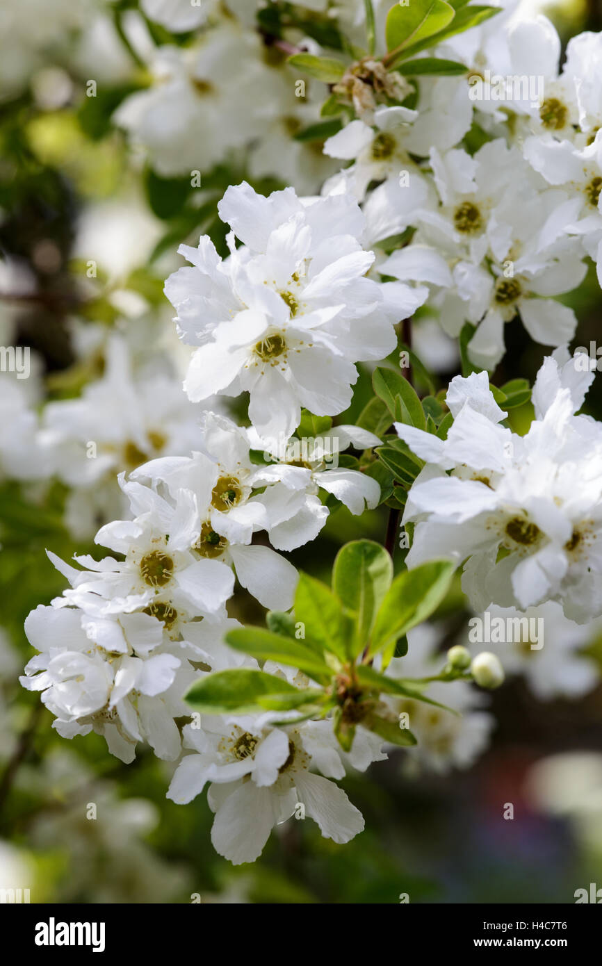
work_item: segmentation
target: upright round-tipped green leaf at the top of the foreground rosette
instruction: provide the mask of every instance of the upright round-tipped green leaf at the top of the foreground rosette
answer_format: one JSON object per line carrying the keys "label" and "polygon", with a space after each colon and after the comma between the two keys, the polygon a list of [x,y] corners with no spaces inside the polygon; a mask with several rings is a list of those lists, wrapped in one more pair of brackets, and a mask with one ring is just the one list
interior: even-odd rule
{"label": "upright round-tipped green leaf at the top of the foreground rosette", "polygon": [[332,589],[356,624],[352,657],[365,647],[393,579],[393,562],[373,540],[354,540],[336,554]]}

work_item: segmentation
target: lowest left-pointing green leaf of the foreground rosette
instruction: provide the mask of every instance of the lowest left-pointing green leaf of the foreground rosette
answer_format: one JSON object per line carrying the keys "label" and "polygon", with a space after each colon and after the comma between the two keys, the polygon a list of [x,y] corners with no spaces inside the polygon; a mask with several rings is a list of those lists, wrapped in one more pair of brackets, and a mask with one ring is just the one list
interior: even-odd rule
{"label": "lowest left-pointing green leaf of the foreground rosette", "polygon": [[[195,681],[186,694],[187,703],[206,715],[223,715],[230,712],[249,714],[272,707],[272,700],[305,703],[302,691],[288,681],[266,674],[263,670],[232,668],[218,670]],[[295,703],[292,705],[297,707]]]}

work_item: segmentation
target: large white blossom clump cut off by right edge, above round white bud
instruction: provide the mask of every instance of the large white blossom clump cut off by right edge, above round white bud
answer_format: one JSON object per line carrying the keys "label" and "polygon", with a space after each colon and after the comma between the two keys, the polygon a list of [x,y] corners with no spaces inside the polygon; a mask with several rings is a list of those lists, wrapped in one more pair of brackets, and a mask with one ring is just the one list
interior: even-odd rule
{"label": "large white blossom clump cut off by right edge, above round white bud", "polygon": [[545,359],[524,437],[500,425],[485,373],[452,380],[446,440],[395,424],[428,464],[405,511],[418,521],[408,565],[468,558],[463,586],[477,610],[558,600],[579,623],[599,612],[602,433],[573,415],[592,379],[577,361],[566,351]]}

